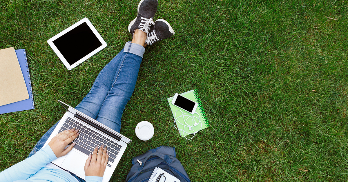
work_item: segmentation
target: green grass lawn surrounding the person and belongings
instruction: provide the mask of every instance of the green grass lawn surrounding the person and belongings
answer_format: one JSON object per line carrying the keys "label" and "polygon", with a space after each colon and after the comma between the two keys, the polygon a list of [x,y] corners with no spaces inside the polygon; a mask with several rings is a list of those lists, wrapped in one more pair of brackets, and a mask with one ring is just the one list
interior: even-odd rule
{"label": "green grass lawn surrounding the person and belongings", "polygon": [[[4,0],[0,49],[25,49],[34,110],[0,115],[0,171],[27,157],[98,72],[131,40],[137,0]],[[68,71],[47,40],[87,17],[108,46]],[[159,0],[176,34],[145,49],[121,133],[131,159],[176,147],[191,181],[345,181],[348,177],[348,1]],[[185,140],[167,97],[197,89],[210,127]],[[149,121],[155,135],[134,132]]]}

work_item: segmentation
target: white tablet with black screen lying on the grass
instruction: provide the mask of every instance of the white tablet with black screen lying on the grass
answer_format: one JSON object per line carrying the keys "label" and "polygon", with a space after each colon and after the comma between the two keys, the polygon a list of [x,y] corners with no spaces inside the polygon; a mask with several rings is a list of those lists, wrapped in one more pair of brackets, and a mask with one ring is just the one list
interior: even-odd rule
{"label": "white tablet with black screen lying on the grass", "polygon": [[66,28],[50,38],[47,43],[71,70],[106,47],[106,43],[88,18]]}

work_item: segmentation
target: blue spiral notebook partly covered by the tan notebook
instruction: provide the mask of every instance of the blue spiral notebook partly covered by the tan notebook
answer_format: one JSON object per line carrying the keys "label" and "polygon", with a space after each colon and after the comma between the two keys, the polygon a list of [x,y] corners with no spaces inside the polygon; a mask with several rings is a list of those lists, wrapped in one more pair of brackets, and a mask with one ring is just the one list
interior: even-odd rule
{"label": "blue spiral notebook partly covered by the tan notebook", "polygon": [[25,50],[24,49],[16,50],[16,54],[17,54],[19,66],[21,66],[26,89],[28,89],[29,98],[23,101],[18,101],[11,104],[0,106],[0,114],[34,109],[33,92],[31,90],[29,68],[28,68],[28,63],[26,60]]}

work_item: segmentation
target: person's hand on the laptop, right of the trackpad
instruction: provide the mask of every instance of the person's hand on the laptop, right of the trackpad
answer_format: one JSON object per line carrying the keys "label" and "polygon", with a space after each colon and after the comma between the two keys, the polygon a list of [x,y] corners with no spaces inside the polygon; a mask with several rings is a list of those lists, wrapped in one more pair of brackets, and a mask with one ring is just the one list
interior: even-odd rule
{"label": "person's hand on the laptop, right of the trackpad", "polygon": [[108,164],[109,152],[106,152],[106,147],[102,145],[99,148],[94,148],[93,154],[88,156],[85,164],[86,176],[101,176],[103,177],[106,165]]}

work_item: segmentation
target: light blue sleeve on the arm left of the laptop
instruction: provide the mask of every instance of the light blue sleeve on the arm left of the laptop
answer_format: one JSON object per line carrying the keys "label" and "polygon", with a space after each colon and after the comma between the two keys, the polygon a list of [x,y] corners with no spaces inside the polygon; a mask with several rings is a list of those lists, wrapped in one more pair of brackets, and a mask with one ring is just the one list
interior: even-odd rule
{"label": "light blue sleeve on the arm left of the laptop", "polygon": [[2,171],[0,173],[1,182],[26,180],[56,158],[57,157],[51,147],[46,145],[45,148],[42,148],[31,157],[7,168],[5,171]]}

